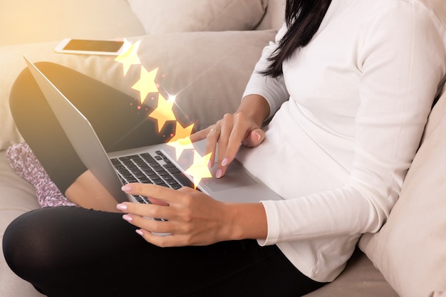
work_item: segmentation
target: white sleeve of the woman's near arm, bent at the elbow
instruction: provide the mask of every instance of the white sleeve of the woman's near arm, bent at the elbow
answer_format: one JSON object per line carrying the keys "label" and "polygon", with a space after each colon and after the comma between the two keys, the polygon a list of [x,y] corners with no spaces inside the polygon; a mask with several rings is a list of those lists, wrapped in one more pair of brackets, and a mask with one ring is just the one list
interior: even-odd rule
{"label": "white sleeve of the woman's near arm, bent at the elbow", "polygon": [[376,232],[390,214],[446,73],[445,25],[422,4],[400,1],[361,28],[353,170],[338,189],[264,201],[259,244]]}

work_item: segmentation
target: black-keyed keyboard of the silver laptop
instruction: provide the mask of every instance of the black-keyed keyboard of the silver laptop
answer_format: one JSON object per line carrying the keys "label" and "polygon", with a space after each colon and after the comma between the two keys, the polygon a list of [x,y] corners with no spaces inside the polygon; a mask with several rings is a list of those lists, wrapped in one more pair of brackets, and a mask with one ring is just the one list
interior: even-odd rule
{"label": "black-keyed keyboard of the silver laptop", "polygon": [[[148,152],[110,159],[124,184],[142,182],[180,189],[194,184],[161,152]],[[146,197],[133,196],[140,203],[150,203]]]}

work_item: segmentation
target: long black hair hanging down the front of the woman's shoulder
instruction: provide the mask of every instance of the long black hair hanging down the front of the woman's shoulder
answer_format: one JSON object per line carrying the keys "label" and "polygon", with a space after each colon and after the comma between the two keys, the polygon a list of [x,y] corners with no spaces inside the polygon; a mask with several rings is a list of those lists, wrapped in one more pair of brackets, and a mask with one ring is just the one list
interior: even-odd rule
{"label": "long black hair hanging down the front of the woman's shoulder", "polygon": [[271,54],[269,67],[261,74],[273,78],[282,75],[282,63],[311,41],[330,4],[331,0],[286,0],[285,22],[288,31]]}

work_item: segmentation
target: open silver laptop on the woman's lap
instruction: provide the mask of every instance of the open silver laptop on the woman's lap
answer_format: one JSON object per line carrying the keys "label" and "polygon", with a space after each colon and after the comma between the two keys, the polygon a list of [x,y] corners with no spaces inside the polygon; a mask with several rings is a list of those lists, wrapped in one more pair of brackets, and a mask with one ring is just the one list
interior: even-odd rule
{"label": "open silver laptop on the woman's lap", "polygon": [[[194,184],[193,177],[186,173],[193,162],[195,155],[193,150],[185,150],[178,160],[175,147],[167,143],[119,152],[105,152],[88,119],[26,56],[24,59],[85,167],[117,202],[150,203],[146,197],[126,194],[120,189],[123,184],[129,182],[148,182],[172,189],[183,186],[197,187],[222,202],[281,200],[278,194],[266,187],[237,160],[229,165],[227,173],[221,179],[209,177]],[[195,142],[194,147],[199,154],[204,155],[204,140]]]}

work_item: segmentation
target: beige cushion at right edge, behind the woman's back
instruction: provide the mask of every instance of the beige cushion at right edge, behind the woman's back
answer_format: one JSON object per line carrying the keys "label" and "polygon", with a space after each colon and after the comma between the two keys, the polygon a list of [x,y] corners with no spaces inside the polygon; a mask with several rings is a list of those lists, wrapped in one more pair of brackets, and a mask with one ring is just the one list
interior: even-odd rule
{"label": "beige cushion at right edge, behind the woman's back", "polygon": [[425,138],[388,222],[360,247],[402,297],[446,292],[446,95],[432,110]]}

